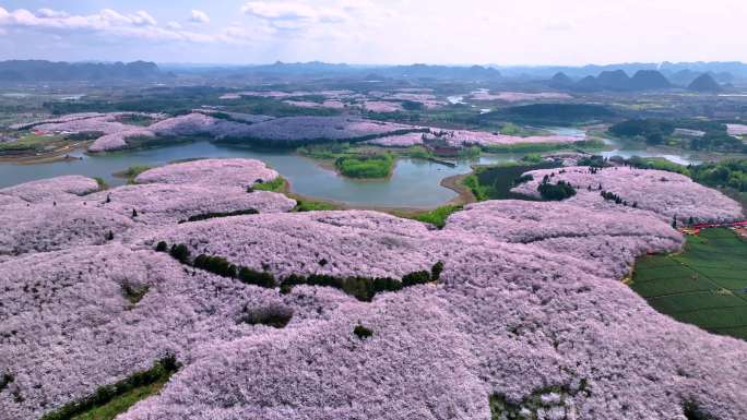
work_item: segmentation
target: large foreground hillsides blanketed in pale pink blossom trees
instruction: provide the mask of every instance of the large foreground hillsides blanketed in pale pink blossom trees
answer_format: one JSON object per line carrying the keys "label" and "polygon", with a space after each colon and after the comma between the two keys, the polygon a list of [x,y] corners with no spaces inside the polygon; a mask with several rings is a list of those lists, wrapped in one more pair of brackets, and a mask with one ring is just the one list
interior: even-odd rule
{"label": "large foreground hillsides blanketed in pale pink blossom trees", "polygon": [[[200,121],[175,127],[214,129]],[[578,193],[471,204],[442,229],[293,212],[253,188],[277,172],[248,159],[104,191],[74,176],[0,189],[0,418],[40,418],[166,355],[178,372],[118,419],[487,420],[491,404],[526,419],[747,418],[747,343],[619,281],[684,244],[673,217],[736,219],[739,205],[671,172],[531,175],[517,191],[547,176]]]}

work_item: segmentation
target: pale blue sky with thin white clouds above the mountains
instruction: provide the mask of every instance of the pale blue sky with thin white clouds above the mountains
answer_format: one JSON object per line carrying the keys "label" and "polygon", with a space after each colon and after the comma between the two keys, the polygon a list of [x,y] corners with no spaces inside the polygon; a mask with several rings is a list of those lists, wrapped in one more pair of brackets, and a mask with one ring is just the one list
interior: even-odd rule
{"label": "pale blue sky with thin white clouds above the mountains", "polygon": [[0,0],[0,59],[747,61],[745,16],[744,0]]}

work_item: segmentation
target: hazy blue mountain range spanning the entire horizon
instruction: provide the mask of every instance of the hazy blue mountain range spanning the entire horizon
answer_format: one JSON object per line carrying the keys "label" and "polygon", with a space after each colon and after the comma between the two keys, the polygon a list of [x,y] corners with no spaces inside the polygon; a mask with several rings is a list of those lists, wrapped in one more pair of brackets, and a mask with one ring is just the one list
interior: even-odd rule
{"label": "hazy blue mountain range spanning the entire horizon", "polygon": [[[553,71],[553,72],[552,72]],[[552,73],[548,73],[552,72]],[[497,67],[406,64],[374,65],[321,61],[259,65],[188,65],[134,61],[129,63],[51,62],[45,60],[0,61],[0,82],[132,81],[205,75],[209,77],[293,79],[348,77],[352,80],[463,80],[471,82],[542,82],[557,89],[579,92],[633,92],[687,87],[708,73],[719,84],[747,81],[747,64],[740,62],[621,63],[584,67]],[[632,76],[630,76],[632,74]],[[376,75],[376,77],[370,77]],[[552,79],[550,79],[552,77]]]}

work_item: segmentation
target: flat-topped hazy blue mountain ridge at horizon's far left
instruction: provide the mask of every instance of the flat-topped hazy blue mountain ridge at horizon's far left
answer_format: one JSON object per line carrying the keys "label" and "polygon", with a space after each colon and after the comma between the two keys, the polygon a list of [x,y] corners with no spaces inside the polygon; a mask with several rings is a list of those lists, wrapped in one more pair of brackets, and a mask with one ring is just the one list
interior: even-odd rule
{"label": "flat-topped hazy blue mountain ridge at horizon's far left", "polygon": [[2,82],[68,82],[143,80],[165,76],[154,62],[129,63],[52,62],[46,60],[0,61]]}

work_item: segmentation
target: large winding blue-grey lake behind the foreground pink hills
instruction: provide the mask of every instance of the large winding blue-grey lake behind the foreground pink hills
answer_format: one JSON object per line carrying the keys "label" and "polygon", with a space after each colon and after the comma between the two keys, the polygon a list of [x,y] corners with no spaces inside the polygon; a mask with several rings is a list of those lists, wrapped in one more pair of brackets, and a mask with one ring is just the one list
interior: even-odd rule
{"label": "large winding blue-grey lake behind the foreground pink hills", "polygon": [[383,180],[355,180],[321,167],[312,159],[284,152],[258,152],[245,147],[218,145],[210,142],[87,156],[74,155],[80,160],[36,165],[0,164],[0,188],[62,175],[100,177],[110,185],[124,182],[112,176],[130,166],[162,166],[198,157],[244,157],[259,159],[277,170],[290,182],[295,193],[331,200],[355,206],[430,208],[456,196],[443,188],[443,178],[470,172],[473,164],[495,164],[515,160],[518,156],[486,156],[475,161],[460,161],[456,167],[426,160],[398,159],[394,172]]}

